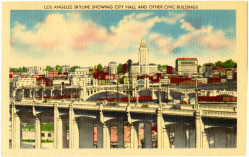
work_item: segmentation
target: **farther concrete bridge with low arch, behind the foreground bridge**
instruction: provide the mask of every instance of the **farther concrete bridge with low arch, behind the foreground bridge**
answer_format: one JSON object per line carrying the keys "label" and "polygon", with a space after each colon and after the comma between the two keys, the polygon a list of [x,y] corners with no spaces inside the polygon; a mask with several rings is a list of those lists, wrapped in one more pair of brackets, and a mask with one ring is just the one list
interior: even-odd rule
{"label": "farther concrete bridge with low arch, behind the foreground bridge", "polygon": [[[177,87],[165,87],[161,86],[137,86],[136,84],[132,84],[130,89],[128,89],[128,85],[108,85],[108,86],[97,86],[96,84],[93,86],[86,85],[85,81],[81,81],[79,86],[65,86],[62,85],[60,87],[55,86],[25,86],[20,88],[12,89],[11,97],[16,97],[19,95],[21,99],[25,97],[33,98],[39,96],[43,99],[44,96],[56,96],[63,94],[79,94],[79,98],[82,101],[88,100],[90,97],[104,92],[115,92],[124,96],[127,96],[128,91],[131,91],[131,96],[138,97],[142,96],[141,91],[148,91],[152,96],[153,100],[161,101],[163,99],[179,99],[181,95],[185,97],[191,97],[190,95],[195,93],[195,89],[183,89]],[[174,96],[174,93],[177,93],[180,96]],[[237,96],[236,91],[226,91],[226,90],[201,90],[198,91],[198,95],[201,96],[219,96],[219,95],[229,95],[229,96]]]}

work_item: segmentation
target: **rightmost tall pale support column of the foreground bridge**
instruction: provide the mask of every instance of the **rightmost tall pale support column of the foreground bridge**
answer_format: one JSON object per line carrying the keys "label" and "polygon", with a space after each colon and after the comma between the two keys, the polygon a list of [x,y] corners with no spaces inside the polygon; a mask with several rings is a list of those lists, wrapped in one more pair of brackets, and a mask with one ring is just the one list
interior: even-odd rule
{"label": "rightmost tall pale support column of the foreground bridge", "polygon": [[201,119],[201,111],[195,111],[195,146],[196,148],[201,148],[201,137],[202,137],[202,127],[201,127],[202,119]]}

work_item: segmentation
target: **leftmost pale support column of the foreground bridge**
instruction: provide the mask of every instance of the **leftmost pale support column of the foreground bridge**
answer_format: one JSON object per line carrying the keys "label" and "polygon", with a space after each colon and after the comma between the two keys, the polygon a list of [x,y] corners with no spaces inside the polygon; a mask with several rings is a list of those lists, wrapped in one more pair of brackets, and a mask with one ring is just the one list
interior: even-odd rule
{"label": "leftmost pale support column of the foreground bridge", "polygon": [[20,149],[21,147],[21,121],[20,117],[16,113],[15,106],[12,105],[12,115],[11,115],[11,127],[12,127],[12,137],[11,146],[12,149]]}

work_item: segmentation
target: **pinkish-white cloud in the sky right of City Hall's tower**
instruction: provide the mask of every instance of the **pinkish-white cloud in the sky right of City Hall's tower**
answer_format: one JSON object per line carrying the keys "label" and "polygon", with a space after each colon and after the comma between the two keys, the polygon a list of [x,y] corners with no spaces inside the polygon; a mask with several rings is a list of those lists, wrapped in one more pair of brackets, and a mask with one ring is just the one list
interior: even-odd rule
{"label": "pinkish-white cloud in the sky right of City Hall's tower", "polygon": [[170,53],[174,49],[184,47],[190,42],[197,43],[211,52],[222,48],[230,48],[235,44],[234,39],[227,38],[222,30],[214,30],[213,26],[208,25],[202,26],[200,29],[195,29],[190,22],[186,22],[184,19],[181,19],[180,23],[181,28],[188,32],[179,38],[174,39],[162,35],[151,38],[162,53]]}

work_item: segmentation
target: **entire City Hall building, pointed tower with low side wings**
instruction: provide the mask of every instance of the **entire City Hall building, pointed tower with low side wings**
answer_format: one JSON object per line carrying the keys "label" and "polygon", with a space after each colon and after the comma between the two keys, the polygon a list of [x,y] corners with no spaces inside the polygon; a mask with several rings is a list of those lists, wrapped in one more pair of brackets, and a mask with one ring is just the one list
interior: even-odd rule
{"label": "entire City Hall building, pointed tower with low side wings", "polygon": [[149,64],[149,51],[145,40],[142,39],[138,52],[138,63],[132,64],[132,74],[151,75],[157,73],[157,65]]}

